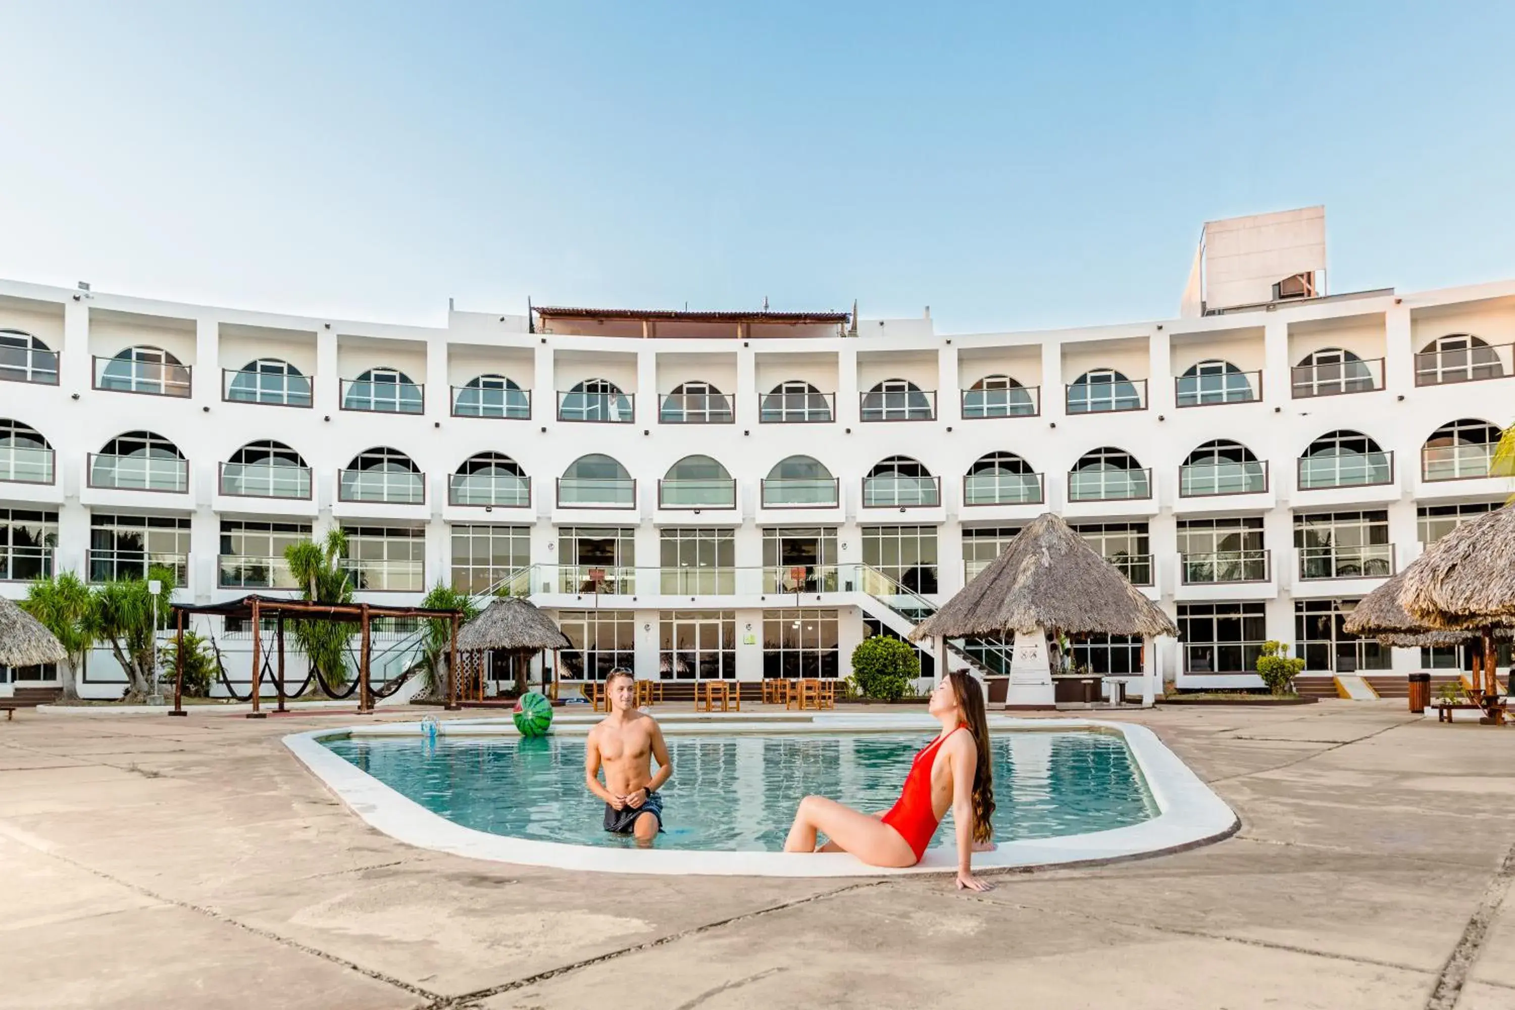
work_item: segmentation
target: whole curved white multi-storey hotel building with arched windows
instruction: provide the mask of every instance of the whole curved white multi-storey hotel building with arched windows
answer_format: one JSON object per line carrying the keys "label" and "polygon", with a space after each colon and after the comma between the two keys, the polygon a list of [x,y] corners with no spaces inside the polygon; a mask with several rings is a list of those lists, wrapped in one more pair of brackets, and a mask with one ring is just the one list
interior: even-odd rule
{"label": "whole curved white multi-storey hotel building with arched windows", "polygon": [[[0,282],[0,594],[148,563],[180,600],[289,592],[285,545],[341,524],[359,600],[508,581],[574,642],[564,678],[836,675],[1053,510],[1182,628],[1079,645],[1095,671],[1254,686],[1279,639],[1312,674],[1403,681],[1460,660],[1342,615],[1509,494],[1515,280],[1327,295],[1324,268],[1321,207],[1220,221],[1176,318],[953,335],[545,307],[432,329]],[[0,669],[0,695],[53,678]],[[83,694],[120,686],[92,656]]]}

